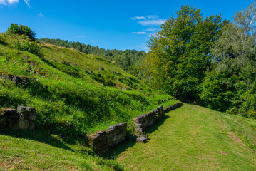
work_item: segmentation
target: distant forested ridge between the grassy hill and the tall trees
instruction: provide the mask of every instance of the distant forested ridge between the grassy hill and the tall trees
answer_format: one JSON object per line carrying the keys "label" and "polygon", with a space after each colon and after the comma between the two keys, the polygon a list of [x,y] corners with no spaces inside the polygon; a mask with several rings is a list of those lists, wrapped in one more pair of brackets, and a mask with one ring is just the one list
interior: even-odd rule
{"label": "distant forested ridge between the grassy hill and the tall trees", "polygon": [[106,50],[104,48],[99,48],[98,46],[91,46],[89,44],[86,45],[74,41],[64,41],[61,39],[41,38],[39,39],[39,41],[44,43],[51,43],[53,45],[62,46],[66,48],[75,48],[76,50],[86,54],[101,56],[110,61],[114,61],[117,66],[121,67],[123,70],[128,71],[129,73],[135,76],[143,76],[143,71],[140,70],[140,66],[142,66],[145,61],[145,51],[121,51],[116,49]]}

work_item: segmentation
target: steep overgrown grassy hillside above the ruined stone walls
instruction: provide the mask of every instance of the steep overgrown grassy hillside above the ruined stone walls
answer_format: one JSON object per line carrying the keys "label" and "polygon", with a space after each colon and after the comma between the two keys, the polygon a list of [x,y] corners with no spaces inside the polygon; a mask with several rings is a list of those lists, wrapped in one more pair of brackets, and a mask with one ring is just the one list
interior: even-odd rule
{"label": "steep overgrown grassy hillside above the ruined stone walls", "polygon": [[26,39],[0,35],[0,73],[31,81],[26,88],[0,79],[0,108],[33,106],[39,114],[37,130],[71,142],[84,141],[88,132],[130,123],[136,115],[172,99],[98,56],[48,44],[42,45],[37,56],[16,50],[17,42],[22,44]]}

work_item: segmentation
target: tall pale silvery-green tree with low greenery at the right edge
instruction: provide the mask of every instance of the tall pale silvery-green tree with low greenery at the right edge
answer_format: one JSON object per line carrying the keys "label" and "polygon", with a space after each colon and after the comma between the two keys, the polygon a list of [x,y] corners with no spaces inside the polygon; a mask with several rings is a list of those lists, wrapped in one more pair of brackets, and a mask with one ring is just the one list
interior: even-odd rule
{"label": "tall pale silvery-green tree with low greenery at the right edge", "polygon": [[237,11],[232,23],[223,28],[211,54],[214,71],[203,83],[202,102],[218,110],[256,118],[255,3]]}

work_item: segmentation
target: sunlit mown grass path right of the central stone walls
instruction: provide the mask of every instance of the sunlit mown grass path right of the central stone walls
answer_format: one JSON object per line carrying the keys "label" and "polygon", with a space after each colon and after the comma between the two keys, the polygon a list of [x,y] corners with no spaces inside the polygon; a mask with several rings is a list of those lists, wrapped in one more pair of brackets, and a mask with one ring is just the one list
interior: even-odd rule
{"label": "sunlit mown grass path right of the central stone walls", "polygon": [[147,143],[129,147],[116,160],[128,170],[256,170],[255,150],[229,130],[223,114],[184,104],[148,130]]}

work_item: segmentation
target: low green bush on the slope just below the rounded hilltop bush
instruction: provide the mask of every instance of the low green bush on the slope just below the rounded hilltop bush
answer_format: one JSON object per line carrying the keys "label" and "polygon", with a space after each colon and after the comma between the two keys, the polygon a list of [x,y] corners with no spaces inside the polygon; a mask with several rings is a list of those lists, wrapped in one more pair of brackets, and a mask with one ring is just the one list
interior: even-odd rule
{"label": "low green bush on the slope just below the rounded hilltop bush", "polygon": [[20,41],[16,41],[15,48],[19,51],[28,51],[39,57],[43,55],[41,52],[41,44],[37,43],[36,41],[30,42],[29,40],[26,40],[22,41],[22,43],[20,43]]}

